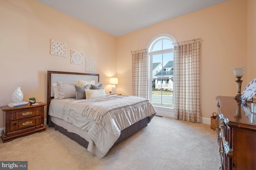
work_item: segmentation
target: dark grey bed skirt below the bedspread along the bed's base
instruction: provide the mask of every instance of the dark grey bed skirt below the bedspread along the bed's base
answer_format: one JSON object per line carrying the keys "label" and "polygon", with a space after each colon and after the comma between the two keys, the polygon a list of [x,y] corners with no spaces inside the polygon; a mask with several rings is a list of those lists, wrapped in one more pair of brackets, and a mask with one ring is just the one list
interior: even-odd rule
{"label": "dark grey bed skirt below the bedspread along the bed's base", "polygon": [[[121,131],[120,137],[117,139],[117,141],[114,143],[114,145],[120,143],[124,139],[130,137],[131,135],[133,135],[134,133],[136,133],[137,131],[139,131],[140,129],[145,127],[146,125],[148,125],[148,123],[151,121],[151,119],[155,115],[156,114],[153,114],[150,117],[146,117],[146,118],[134,123],[133,125],[127,127],[126,129],[123,129]],[[86,139],[82,138],[80,135],[77,135],[76,133],[68,132],[67,129],[65,129],[59,125],[56,125],[55,123],[53,123],[51,121],[50,116],[49,116],[49,127],[54,127],[55,130],[58,130],[60,133],[66,135],[67,137],[76,141],[77,143],[79,143],[80,145],[82,145],[83,147],[85,147],[87,149],[89,142],[86,141]]]}

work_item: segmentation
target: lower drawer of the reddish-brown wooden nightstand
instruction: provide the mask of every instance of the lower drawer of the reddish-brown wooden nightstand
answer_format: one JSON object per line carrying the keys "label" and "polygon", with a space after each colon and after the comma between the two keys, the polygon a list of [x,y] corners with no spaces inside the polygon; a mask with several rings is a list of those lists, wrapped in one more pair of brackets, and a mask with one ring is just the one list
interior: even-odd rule
{"label": "lower drawer of the reddish-brown wooden nightstand", "polygon": [[28,119],[22,119],[10,122],[10,131],[17,131],[19,129],[28,128],[41,124],[41,116],[31,117]]}

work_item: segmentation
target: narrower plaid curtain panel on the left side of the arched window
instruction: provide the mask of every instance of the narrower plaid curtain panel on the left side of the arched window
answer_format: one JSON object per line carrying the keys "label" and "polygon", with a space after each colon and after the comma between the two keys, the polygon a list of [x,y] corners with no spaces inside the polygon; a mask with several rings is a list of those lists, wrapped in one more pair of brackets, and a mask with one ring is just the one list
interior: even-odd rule
{"label": "narrower plaid curtain panel on the left side of the arched window", "polygon": [[148,52],[132,52],[132,95],[148,99]]}

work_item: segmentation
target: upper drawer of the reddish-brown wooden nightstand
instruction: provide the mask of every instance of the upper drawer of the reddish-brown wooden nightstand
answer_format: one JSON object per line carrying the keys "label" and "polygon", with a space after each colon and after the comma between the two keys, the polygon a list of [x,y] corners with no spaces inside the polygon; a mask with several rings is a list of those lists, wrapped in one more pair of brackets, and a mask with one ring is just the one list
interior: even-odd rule
{"label": "upper drawer of the reddish-brown wooden nightstand", "polygon": [[10,113],[10,120],[17,120],[17,119],[25,119],[28,117],[33,117],[41,115],[41,108],[33,108],[33,109],[24,109],[19,111],[11,111]]}

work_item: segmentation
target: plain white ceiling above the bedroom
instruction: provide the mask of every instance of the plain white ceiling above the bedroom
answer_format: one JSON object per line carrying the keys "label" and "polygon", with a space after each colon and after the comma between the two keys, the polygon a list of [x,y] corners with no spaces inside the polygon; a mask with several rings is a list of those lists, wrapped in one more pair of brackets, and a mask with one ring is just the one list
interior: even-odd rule
{"label": "plain white ceiling above the bedroom", "polygon": [[228,0],[37,1],[119,37]]}

